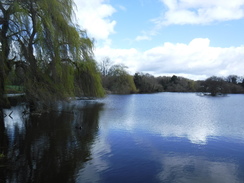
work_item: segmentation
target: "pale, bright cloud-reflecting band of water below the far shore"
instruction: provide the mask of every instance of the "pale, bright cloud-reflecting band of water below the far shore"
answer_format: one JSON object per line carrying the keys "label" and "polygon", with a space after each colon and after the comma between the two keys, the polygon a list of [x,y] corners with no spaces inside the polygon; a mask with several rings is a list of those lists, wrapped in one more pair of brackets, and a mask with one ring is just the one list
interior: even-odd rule
{"label": "pale, bright cloud-reflecting band of water below the far shore", "polygon": [[[164,93],[131,95],[126,99],[116,95],[106,99],[108,106],[102,115],[105,121],[102,125],[127,131],[144,130],[164,137],[187,137],[196,144],[206,144],[208,138],[223,135],[244,140],[244,124],[240,120],[244,109],[238,95],[216,99]],[[114,114],[116,117],[111,120]]]}

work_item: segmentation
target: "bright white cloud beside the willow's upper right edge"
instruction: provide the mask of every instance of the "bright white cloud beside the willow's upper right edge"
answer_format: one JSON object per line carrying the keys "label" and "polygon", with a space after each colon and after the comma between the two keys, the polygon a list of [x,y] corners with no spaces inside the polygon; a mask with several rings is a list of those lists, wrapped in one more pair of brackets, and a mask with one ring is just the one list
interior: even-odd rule
{"label": "bright white cloud beside the willow's upper right edge", "polygon": [[104,0],[74,0],[78,24],[95,39],[105,40],[114,33],[116,21],[111,20],[116,10]]}

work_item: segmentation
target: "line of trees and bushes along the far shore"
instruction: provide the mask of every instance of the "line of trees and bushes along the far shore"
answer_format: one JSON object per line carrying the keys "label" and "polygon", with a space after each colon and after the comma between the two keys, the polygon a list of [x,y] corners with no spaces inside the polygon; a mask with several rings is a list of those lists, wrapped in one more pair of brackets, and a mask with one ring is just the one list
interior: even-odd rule
{"label": "line of trees and bushes along the far shore", "polygon": [[112,65],[109,58],[99,64],[104,89],[108,93],[155,93],[155,92],[204,92],[212,96],[228,93],[244,93],[244,78],[237,75],[211,76],[194,81],[180,76],[155,77],[137,72],[129,75],[124,65]]}

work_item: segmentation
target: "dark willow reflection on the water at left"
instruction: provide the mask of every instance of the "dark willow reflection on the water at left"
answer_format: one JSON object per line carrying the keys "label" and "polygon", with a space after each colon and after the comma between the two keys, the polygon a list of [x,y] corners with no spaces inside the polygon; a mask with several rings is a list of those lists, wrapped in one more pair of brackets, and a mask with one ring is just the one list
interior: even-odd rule
{"label": "dark willow reflection on the water at left", "polygon": [[60,105],[55,112],[17,122],[16,116],[0,119],[0,153],[6,155],[0,182],[75,182],[77,171],[91,159],[102,104]]}

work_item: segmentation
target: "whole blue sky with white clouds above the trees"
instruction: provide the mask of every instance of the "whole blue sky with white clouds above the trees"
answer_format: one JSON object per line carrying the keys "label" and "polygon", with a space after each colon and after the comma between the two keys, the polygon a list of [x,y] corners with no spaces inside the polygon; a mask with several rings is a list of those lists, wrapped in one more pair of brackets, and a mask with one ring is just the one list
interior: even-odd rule
{"label": "whole blue sky with white clouds above the trees", "polygon": [[95,57],[131,74],[244,76],[244,0],[74,0]]}

